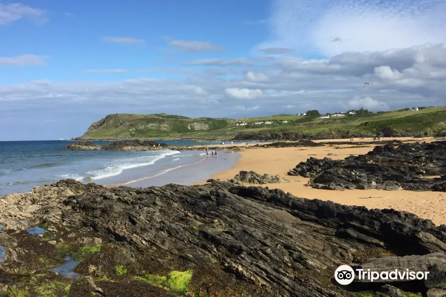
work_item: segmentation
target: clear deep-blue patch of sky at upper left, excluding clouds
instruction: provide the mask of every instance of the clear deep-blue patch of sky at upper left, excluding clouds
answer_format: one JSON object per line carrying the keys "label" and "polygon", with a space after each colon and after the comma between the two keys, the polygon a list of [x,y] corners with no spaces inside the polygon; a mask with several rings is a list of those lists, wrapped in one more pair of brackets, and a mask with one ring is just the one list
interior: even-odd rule
{"label": "clear deep-blue patch of sky at upper left, excluding clouds", "polygon": [[[212,3],[211,3],[212,2]],[[191,58],[231,58],[242,56],[252,45],[262,41],[265,26],[245,24],[264,20],[271,3],[248,1],[23,1],[30,7],[48,11],[48,23],[33,26],[21,20],[0,26],[1,56],[21,53],[49,55],[46,67],[25,67],[1,71],[3,83],[24,80],[114,80],[140,76],[140,73],[96,75],[86,69],[144,69],[172,67]],[[230,21],[228,21],[230,20]],[[236,33],[236,34],[234,34]],[[142,39],[144,44],[103,41],[106,37]],[[225,50],[199,55],[176,52],[168,46],[172,40],[203,40],[224,44]],[[171,75],[164,74],[165,77]],[[157,77],[159,77],[157,75]]]}

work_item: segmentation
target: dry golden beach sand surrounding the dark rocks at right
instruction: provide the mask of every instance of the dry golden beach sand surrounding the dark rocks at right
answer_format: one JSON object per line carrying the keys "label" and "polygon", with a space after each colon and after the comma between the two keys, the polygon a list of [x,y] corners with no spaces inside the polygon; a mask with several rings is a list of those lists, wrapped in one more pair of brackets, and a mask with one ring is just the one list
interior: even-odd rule
{"label": "dry golden beach sand surrounding the dark rocks at right", "polygon": [[[381,140],[397,139],[413,142],[432,142],[433,138],[381,138]],[[372,150],[373,139],[354,139],[356,142],[370,141],[370,145],[360,148],[350,148],[354,144],[348,143],[349,139],[321,140],[316,142],[347,142],[345,145],[324,146],[314,148],[248,148],[242,149],[236,165],[230,169],[223,170],[212,175],[212,178],[227,180],[233,178],[240,170],[255,171],[259,174],[280,175],[288,178],[290,183],[266,184],[262,187],[280,189],[297,197],[331,200],[346,205],[359,205],[367,208],[394,208],[396,210],[408,211],[421,218],[431,219],[436,225],[446,224],[446,193],[443,192],[414,192],[414,191],[384,191],[384,190],[345,190],[330,191],[306,187],[308,178],[288,176],[286,173],[294,168],[299,162],[306,161],[309,157],[324,158],[328,153],[334,153],[328,157],[332,159],[343,159],[349,155],[365,154]],[[243,146],[243,145],[242,145]],[[224,146],[223,146],[224,147]],[[245,147],[245,146],[243,146]],[[338,148],[335,148],[338,147]],[[202,181],[197,184],[203,184]],[[253,185],[256,186],[256,185]]]}

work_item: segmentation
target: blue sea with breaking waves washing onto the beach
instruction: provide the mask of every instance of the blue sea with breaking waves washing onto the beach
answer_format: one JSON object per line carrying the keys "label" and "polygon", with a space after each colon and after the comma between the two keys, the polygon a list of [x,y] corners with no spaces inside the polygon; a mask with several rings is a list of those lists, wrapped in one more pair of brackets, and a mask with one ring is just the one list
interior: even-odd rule
{"label": "blue sea with breaking waves washing onto the beach", "polygon": [[[213,146],[219,142],[160,141],[176,146]],[[96,142],[104,145],[107,142]],[[82,183],[163,186],[190,185],[231,168],[237,152],[218,150],[218,157],[197,150],[112,151],[64,150],[68,141],[0,142],[0,197],[30,192],[61,179]],[[239,143],[234,143],[239,144]]]}

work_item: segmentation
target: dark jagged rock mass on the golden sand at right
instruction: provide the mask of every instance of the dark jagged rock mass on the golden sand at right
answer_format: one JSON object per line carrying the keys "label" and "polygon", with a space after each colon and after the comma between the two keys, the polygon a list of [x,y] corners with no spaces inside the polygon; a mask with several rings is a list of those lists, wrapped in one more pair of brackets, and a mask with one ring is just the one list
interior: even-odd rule
{"label": "dark jagged rock mass on the golden sand at right", "polygon": [[289,175],[309,177],[309,186],[318,189],[399,188],[412,191],[446,191],[446,181],[423,176],[444,175],[446,142],[390,145],[374,148],[365,155],[344,160],[309,158],[291,169]]}

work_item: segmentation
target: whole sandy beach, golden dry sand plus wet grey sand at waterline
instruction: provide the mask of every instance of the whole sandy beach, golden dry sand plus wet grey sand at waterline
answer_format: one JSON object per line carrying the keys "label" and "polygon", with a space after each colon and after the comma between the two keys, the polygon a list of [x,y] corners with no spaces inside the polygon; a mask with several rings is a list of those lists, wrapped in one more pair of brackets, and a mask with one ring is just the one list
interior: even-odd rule
{"label": "whole sandy beach, golden dry sand plus wet grey sand at waterline", "polygon": [[[404,143],[415,142],[432,142],[438,141],[434,137],[423,138],[382,138],[382,141],[402,141]],[[118,183],[103,184],[106,187],[128,186],[128,187],[150,187],[163,186],[169,183],[185,184],[185,185],[202,185],[208,179],[227,180],[232,179],[241,170],[255,171],[259,174],[279,175],[290,180],[289,183],[280,184],[264,184],[264,185],[249,185],[269,187],[270,189],[280,189],[285,193],[289,192],[297,197],[321,200],[331,200],[336,203],[344,205],[358,205],[367,208],[394,208],[396,210],[403,210],[414,213],[421,218],[427,218],[434,221],[435,224],[446,223],[446,212],[433,212],[432,209],[444,209],[446,207],[446,194],[443,192],[415,192],[407,190],[384,191],[384,190],[321,190],[306,187],[308,178],[299,176],[289,176],[287,172],[294,168],[299,162],[306,161],[309,157],[316,158],[330,157],[332,159],[344,159],[349,155],[365,154],[372,150],[377,145],[374,144],[372,138],[355,139],[355,142],[370,142],[370,144],[363,144],[355,146],[350,143],[349,139],[333,139],[333,140],[315,140],[315,143],[331,143],[325,144],[322,147],[288,147],[288,148],[260,148],[257,144],[264,145],[271,142],[253,143],[253,144],[234,144],[234,145],[215,145],[213,148],[219,150],[219,158],[226,154],[226,149],[230,147],[238,147],[237,150],[230,152],[236,155],[236,160],[231,160],[233,163],[227,162],[224,164],[214,163],[213,166],[203,166],[209,162],[199,161],[193,164],[182,165],[179,168],[169,169],[165,173],[154,174],[151,176],[139,175],[138,178],[125,180]],[[343,142],[345,144],[338,144]],[[202,147],[197,144],[194,147]],[[197,152],[197,150],[194,150]],[[234,152],[236,152],[234,154]],[[328,154],[334,155],[328,155]],[[223,163],[223,162],[222,162]],[[193,165],[193,166],[189,166]],[[224,167],[222,168],[221,165]],[[140,168],[144,169],[145,166]],[[147,168],[147,167],[146,167]],[[132,169],[129,169],[132,170]],[[130,172],[130,171],[128,171]],[[204,174],[204,176],[200,176]],[[194,179],[191,179],[191,176]],[[184,183],[181,179],[188,182]],[[166,181],[167,180],[167,181]],[[150,181],[150,182],[149,182]],[[98,183],[98,181],[92,181]],[[14,193],[11,193],[14,194]]]}

